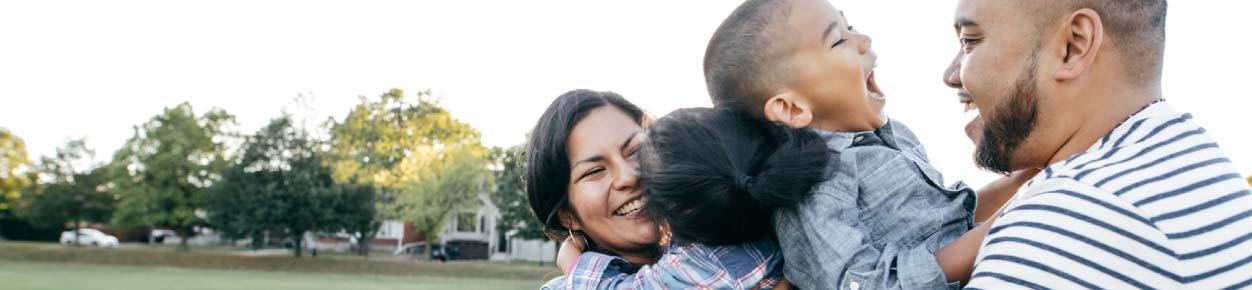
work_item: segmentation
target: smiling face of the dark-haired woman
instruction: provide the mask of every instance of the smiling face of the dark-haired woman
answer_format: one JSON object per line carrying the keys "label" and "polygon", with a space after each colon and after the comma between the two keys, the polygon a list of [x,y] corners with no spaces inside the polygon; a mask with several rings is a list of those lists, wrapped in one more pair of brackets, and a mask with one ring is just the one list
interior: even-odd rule
{"label": "smiling face of the dark-haired woman", "polygon": [[639,186],[639,151],[644,128],[615,106],[592,109],[570,131],[571,229],[582,230],[598,246],[635,262],[636,254],[655,252],[660,229],[644,212]]}

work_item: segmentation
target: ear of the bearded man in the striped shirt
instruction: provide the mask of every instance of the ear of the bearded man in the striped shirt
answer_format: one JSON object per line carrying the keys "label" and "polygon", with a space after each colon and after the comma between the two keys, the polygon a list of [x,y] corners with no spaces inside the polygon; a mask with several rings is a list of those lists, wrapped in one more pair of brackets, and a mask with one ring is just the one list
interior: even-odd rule
{"label": "ear of the bearded man in the striped shirt", "polygon": [[1073,80],[1090,70],[1092,64],[1104,44],[1104,22],[1092,9],[1080,9],[1069,15],[1062,26],[1063,40],[1062,65],[1057,70],[1057,80]]}

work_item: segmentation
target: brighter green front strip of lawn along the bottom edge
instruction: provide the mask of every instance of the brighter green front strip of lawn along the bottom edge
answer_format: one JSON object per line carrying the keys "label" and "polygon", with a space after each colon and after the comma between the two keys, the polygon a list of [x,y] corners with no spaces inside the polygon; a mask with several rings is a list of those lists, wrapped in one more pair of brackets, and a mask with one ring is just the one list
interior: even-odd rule
{"label": "brighter green front strip of lawn along the bottom edge", "polygon": [[526,280],[103,266],[0,260],[0,289],[23,290],[426,290],[537,289]]}

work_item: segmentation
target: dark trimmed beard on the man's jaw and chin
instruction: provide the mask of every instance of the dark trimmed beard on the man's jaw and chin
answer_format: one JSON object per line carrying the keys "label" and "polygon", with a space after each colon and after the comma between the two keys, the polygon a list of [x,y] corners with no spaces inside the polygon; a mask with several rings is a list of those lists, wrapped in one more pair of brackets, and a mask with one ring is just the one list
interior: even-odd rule
{"label": "dark trimmed beard on the man's jaw and chin", "polygon": [[983,126],[983,140],[974,151],[979,168],[1008,175],[1013,172],[1013,154],[1034,131],[1039,116],[1039,94],[1035,86],[1038,56],[1032,56],[1025,70],[1019,74],[1012,99],[1000,105]]}

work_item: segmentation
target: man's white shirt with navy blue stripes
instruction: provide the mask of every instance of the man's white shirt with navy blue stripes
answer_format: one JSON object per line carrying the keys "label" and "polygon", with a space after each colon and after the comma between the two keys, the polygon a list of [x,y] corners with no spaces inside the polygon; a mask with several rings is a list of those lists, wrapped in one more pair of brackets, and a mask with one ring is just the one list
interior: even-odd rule
{"label": "man's white shirt with navy blue stripes", "polygon": [[968,289],[1246,289],[1249,240],[1248,184],[1191,114],[1158,102],[1032,180]]}

